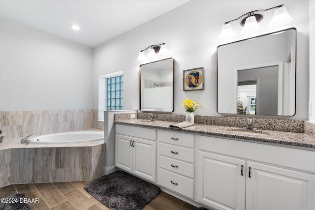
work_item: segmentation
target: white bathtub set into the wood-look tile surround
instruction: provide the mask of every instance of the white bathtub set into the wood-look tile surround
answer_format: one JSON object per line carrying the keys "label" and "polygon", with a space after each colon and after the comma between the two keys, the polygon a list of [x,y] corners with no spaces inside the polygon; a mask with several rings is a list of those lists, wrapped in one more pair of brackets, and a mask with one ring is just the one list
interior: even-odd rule
{"label": "white bathtub set into the wood-look tile surround", "polygon": [[29,138],[34,144],[62,144],[76,142],[91,142],[104,140],[103,131],[73,131],[56,134],[37,135]]}

